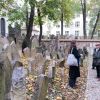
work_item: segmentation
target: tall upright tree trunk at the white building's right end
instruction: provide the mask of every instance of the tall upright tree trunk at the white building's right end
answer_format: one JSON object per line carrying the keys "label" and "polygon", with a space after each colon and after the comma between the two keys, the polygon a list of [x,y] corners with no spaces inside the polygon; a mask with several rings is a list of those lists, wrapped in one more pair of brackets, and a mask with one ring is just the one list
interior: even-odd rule
{"label": "tall upright tree trunk at the white building's right end", "polygon": [[82,2],[81,0],[81,6],[82,6],[82,13],[83,13],[83,34],[84,34],[84,39],[87,38],[87,33],[86,33],[86,0]]}

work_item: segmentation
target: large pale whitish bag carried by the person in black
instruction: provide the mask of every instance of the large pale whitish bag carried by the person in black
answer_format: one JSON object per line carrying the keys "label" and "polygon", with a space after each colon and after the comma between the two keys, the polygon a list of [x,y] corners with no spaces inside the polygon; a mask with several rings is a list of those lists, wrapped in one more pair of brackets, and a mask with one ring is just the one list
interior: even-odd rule
{"label": "large pale whitish bag carried by the person in black", "polygon": [[78,61],[75,58],[75,56],[72,54],[72,52],[68,54],[67,65],[68,66],[78,66]]}

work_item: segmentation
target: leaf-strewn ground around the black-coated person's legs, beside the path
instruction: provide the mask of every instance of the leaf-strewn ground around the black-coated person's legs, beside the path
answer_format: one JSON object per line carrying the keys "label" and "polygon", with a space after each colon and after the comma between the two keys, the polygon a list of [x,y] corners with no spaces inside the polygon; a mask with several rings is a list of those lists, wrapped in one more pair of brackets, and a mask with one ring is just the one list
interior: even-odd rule
{"label": "leaf-strewn ground around the black-coated person's legs, beside the path", "polygon": [[[84,60],[84,66],[80,67],[81,76],[77,79],[77,87],[75,89],[72,89],[68,86],[68,67],[62,69],[57,66],[56,77],[51,83],[51,92],[48,94],[49,100],[84,100],[88,71],[87,62],[88,58]],[[62,73],[62,70],[64,73]]]}

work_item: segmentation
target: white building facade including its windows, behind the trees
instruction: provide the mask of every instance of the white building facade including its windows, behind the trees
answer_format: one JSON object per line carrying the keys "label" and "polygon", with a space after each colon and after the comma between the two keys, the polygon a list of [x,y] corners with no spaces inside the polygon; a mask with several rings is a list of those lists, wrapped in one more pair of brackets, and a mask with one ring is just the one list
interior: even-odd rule
{"label": "white building facade including its windows, behind the trees", "polygon": [[[89,34],[89,17],[86,19],[86,25],[87,25],[87,34]],[[58,22],[54,24],[53,22],[47,21],[43,25],[43,34],[48,35],[48,34],[61,34],[61,22]],[[83,36],[83,15],[82,14],[77,14],[75,17],[72,19],[70,24],[64,23],[63,25],[63,34],[64,35],[73,35],[73,36]]]}

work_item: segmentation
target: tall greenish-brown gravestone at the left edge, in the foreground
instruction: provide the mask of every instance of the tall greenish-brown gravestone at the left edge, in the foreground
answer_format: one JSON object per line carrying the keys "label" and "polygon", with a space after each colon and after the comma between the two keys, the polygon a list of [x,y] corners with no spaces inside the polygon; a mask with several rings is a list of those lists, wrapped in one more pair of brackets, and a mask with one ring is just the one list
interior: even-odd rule
{"label": "tall greenish-brown gravestone at the left edge, in the foreground", "polygon": [[0,100],[9,100],[12,66],[5,52],[0,54]]}

